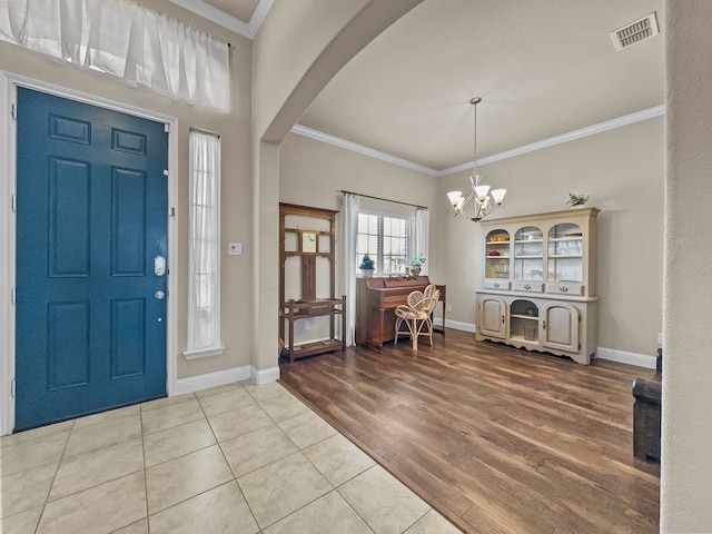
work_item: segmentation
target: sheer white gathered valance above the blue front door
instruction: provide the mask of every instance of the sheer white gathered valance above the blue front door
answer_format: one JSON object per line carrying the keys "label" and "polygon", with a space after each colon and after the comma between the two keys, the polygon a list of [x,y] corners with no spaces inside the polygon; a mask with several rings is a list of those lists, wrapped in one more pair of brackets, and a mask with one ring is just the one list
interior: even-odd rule
{"label": "sheer white gathered valance above the blue front door", "polygon": [[230,108],[227,43],[130,0],[0,0],[0,40]]}

